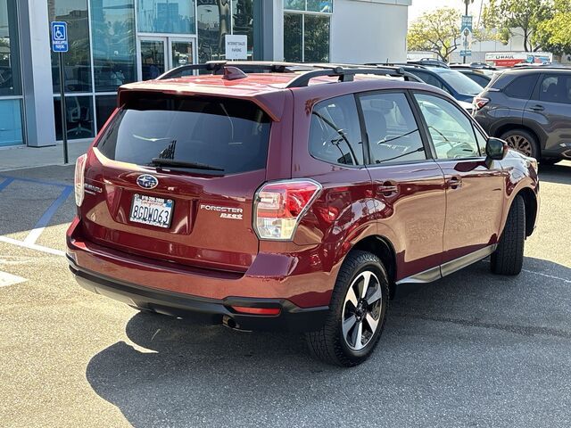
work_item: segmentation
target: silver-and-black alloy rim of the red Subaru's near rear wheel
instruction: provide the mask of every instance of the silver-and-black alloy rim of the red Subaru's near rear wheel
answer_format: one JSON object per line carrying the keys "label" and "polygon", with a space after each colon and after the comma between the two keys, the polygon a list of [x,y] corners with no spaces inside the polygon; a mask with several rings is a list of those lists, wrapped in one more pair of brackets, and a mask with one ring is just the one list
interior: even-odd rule
{"label": "silver-and-black alloy rim of the red Subaru's near rear wheel", "polygon": [[343,340],[352,350],[371,341],[381,321],[383,292],[377,276],[365,270],[352,282],[343,302]]}

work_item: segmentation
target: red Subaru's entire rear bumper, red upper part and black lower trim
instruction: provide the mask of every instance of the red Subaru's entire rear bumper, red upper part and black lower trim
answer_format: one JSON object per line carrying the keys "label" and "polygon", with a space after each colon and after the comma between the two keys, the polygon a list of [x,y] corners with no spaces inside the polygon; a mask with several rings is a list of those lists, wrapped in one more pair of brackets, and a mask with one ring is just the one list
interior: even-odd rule
{"label": "red Subaru's entire rear bumper, red upper part and black lower trim", "polygon": [[[219,323],[228,316],[244,330],[319,329],[338,270],[308,266],[306,253],[259,253],[245,273],[183,266],[92,243],[77,218],[68,229],[67,258],[79,284],[91,292],[174,317]],[[244,315],[232,306],[280,312]]]}

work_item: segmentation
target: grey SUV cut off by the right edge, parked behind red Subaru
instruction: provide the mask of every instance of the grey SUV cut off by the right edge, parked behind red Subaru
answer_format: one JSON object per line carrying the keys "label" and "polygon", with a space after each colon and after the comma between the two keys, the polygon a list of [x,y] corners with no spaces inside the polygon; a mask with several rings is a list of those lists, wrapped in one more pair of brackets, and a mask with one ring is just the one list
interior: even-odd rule
{"label": "grey SUV cut off by the right edge, parked behind red Subaru", "polygon": [[543,163],[571,159],[571,69],[506,70],[474,99],[474,117],[489,135]]}

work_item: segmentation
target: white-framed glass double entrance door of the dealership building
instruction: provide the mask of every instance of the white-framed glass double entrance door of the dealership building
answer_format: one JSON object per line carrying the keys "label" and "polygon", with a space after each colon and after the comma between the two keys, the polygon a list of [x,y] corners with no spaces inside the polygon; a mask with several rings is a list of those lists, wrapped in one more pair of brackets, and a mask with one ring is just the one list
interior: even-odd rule
{"label": "white-framed glass double entrance door of the dealership building", "polygon": [[194,63],[194,40],[180,37],[139,38],[139,79],[158,78],[165,71]]}

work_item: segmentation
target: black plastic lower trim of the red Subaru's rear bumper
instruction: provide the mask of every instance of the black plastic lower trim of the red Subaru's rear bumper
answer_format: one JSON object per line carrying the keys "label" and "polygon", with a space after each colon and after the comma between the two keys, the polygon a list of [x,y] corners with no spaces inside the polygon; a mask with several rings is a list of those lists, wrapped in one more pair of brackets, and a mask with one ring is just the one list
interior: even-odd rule
{"label": "black plastic lower trim of the red Subaru's rear bumper", "polygon": [[[234,321],[236,328],[243,330],[308,332],[318,330],[325,323],[329,310],[327,306],[302,309],[284,299],[228,297],[216,300],[166,292],[88,272],[79,268],[69,257],[68,261],[71,273],[87,291],[171,317],[190,318],[211,324],[220,324],[224,317],[228,317]],[[232,309],[233,306],[279,308],[280,312],[277,316],[247,315],[236,312]]]}

